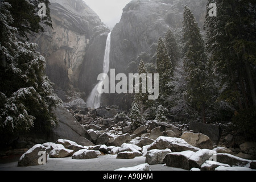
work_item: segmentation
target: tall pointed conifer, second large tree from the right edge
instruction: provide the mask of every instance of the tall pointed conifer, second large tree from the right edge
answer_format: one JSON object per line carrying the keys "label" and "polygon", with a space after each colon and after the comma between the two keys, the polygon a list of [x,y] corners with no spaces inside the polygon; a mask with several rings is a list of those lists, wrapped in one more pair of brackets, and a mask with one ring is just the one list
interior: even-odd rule
{"label": "tall pointed conifer, second large tree from the right edge", "polygon": [[208,58],[205,54],[204,40],[195,17],[188,7],[184,7],[184,70],[187,73],[187,100],[197,110],[201,110],[206,123],[205,109],[211,99],[213,83],[209,78]]}

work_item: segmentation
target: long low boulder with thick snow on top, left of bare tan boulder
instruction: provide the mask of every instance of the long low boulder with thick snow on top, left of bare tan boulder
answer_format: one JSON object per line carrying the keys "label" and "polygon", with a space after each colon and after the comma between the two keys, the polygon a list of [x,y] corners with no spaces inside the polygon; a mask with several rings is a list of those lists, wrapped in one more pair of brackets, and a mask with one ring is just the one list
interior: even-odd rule
{"label": "long low boulder with thick snow on top, left of bare tan boulder", "polygon": [[159,137],[151,144],[148,150],[159,149],[163,150],[169,148],[172,152],[182,152],[182,151],[199,151],[200,148],[193,147],[191,144],[185,142],[181,138],[172,138],[172,137]]}

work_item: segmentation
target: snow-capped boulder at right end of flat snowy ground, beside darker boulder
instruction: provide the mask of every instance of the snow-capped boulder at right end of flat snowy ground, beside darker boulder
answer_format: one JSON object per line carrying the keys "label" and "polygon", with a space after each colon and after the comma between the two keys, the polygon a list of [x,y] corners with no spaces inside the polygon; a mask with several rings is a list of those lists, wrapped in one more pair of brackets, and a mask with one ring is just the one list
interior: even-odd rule
{"label": "snow-capped boulder at right end of flat snowy ground, beside darker boulder", "polygon": [[166,149],[166,150],[153,149],[153,150],[147,151],[146,163],[150,165],[163,164],[163,159],[166,157],[167,154],[170,154],[171,152],[172,151],[170,149]]}

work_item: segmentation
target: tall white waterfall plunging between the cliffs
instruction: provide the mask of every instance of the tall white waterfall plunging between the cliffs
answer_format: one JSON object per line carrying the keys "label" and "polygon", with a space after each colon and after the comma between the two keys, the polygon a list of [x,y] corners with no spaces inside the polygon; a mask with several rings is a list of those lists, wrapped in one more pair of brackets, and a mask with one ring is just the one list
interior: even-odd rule
{"label": "tall white waterfall plunging between the cliffs", "polygon": [[[103,62],[103,73],[108,74],[109,72],[109,53],[111,46],[111,32],[108,35],[106,40],[106,48],[105,48],[105,56]],[[98,93],[98,86],[102,85],[106,77],[103,77],[101,81],[98,82],[96,86],[94,86],[92,92],[90,93],[87,99],[87,107],[91,107],[93,109],[97,109],[101,104],[101,94]]]}

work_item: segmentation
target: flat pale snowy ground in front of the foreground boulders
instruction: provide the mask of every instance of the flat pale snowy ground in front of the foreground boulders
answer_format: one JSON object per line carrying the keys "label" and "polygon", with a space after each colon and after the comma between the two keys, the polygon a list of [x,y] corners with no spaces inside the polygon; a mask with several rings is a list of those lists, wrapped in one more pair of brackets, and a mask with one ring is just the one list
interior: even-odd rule
{"label": "flat pale snowy ground in front of the foreground boulders", "polygon": [[[18,162],[0,164],[0,171],[114,171],[123,167],[134,167],[144,164],[146,158],[116,159],[117,155],[98,156],[96,159],[74,160],[72,158],[48,158],[42,166],[17,167]],[[183,171],[183,169],[163,166],[150,166],[152,171]]]}

